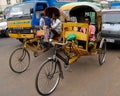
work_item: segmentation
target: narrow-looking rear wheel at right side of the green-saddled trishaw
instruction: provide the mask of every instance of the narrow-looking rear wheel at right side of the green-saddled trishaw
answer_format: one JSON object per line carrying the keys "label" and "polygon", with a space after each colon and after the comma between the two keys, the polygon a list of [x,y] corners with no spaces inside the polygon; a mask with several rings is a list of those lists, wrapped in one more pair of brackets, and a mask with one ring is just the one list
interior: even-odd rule
{"label": "narrow-looking rear wheel at right side of the green-saddled trishaw", "polygon": [[99,64],[103,65],[106,58],[106,41],[104,40],[99,50]]}

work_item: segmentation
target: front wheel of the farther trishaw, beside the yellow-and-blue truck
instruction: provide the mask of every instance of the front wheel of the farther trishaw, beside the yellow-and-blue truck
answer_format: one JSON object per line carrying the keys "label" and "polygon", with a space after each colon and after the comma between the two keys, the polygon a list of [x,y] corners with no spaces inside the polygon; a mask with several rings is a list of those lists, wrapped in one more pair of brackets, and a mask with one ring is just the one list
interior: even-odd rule
{"label": "front wheel of the farther trishaw, beside the yellow-and-blue truck", "polygon": [[13,51],[9,59],[9,65],[13,72],[22,73],[30,65],[30,54],[25,48],[18,48]]}

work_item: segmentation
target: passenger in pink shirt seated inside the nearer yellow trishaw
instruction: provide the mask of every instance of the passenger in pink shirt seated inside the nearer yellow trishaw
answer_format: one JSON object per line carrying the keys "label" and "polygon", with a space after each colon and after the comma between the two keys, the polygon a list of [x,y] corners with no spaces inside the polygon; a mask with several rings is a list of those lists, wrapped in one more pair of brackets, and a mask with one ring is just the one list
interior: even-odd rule
{"label": "passenger in pink shirt seated inside the nearer yellow trishaw", "polygon": [[[92,49],[94,47],[94,42],[95,42],[95,31],[96,31],[96,28],[94,25],[91,25],[90,22],[91,22],[91,18],[90,16],[86,16],[85,17],[85,23],[87,23],[89,25],[89,28],[88,28],[88,35],[89,35],[89,49]],[[86,33],[86,29],[85,28],[81,28],[80,29],[80,32],[83,32],[83,33]]]}

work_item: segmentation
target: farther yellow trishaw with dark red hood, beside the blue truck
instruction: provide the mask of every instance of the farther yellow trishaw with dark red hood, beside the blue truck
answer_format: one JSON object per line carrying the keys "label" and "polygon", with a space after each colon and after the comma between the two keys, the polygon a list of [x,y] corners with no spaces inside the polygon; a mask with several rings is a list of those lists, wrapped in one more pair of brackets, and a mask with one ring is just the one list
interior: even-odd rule
{"label": "farther yellow trishaw with dark red hood, beside the blue truck", "polygon": [[[62,11],[56,7],[48,7],[44,10],[46,16],[51,17],[53,13],[59,13],[60,19],[63,22],[67,17]],[[16,27],[17,25],[9,25],[10,27]],[[27,24],[23,25],[27,26]],[[23,27],[22,26],[22,27]],[[23,46],[15,49],[9,58],[9,66],[13,72],[22,73],[27,70],[30,65],[30,54],[29,51],[34,53],[34,56],[37,57],[41,53],[48,51],[52,45],[49,42],[44,42],[44,30],[37,30],[37,28],[32,29],[31,34],[17,34],[19,39],[23,40]],[[12,34],[12,38],[16,38],[16,35]],[[53,41],[58,41],[59,38],[53,39]]]}

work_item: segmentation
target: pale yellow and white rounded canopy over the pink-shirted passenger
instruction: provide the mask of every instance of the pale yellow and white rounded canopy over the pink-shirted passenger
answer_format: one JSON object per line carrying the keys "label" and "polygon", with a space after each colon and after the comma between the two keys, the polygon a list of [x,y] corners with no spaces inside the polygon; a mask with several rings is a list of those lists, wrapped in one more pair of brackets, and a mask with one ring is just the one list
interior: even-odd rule
{"label": "pale yellow and white rounded canopy over the pink-shirted passenger", "polygon": [[60,10],[62,10],[69,18],[68,21],[71,21],[70,17],[78,17],[80,15],[80,18],[83,19],[86,12],[94,12],[90,14],[101,16],[102,6],[95,2],[75,2],[61,6]]}

